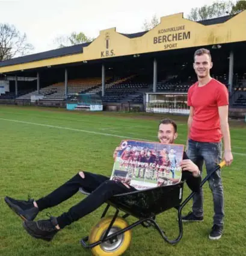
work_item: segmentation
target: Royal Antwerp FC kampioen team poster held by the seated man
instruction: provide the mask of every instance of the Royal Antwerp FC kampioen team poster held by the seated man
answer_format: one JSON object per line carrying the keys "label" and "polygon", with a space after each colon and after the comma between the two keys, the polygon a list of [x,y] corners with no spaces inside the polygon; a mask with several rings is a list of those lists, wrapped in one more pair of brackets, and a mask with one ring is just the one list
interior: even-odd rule
{"label": "Royal Antwerp FC kampioen team poster held by the seated man", "polygon": [[170,186],[182,178],[183,145],[122,140],[110,180],[135,189]]}

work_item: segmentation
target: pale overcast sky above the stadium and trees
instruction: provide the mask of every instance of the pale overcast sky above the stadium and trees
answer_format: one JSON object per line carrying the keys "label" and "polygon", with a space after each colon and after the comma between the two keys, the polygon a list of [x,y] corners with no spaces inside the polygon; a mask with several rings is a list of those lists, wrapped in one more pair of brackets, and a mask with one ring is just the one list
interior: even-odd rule
{"label": "pale overcast sky above the stadium and trees", "polygon": [[34,52],[55,48],[57,36],[82,31],[97,37],[100,30],[116,27],[120,33],[143,31],[144,20],[175,13],[186,16],[192,7],[213,0],[0,0],[0,23],[13,24],[26,33]]}

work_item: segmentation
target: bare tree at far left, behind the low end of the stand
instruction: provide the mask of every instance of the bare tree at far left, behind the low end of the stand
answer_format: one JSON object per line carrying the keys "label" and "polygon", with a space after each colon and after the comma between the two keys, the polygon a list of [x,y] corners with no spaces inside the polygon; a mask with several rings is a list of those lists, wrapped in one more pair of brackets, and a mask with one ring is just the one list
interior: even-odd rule
{"label": "bare tree at far left, behind the low end of the stand", "polygon": [[26,43],[25,33],[20,34],[13,25],[0,23],[0,61],[29,54],[33,49]]}

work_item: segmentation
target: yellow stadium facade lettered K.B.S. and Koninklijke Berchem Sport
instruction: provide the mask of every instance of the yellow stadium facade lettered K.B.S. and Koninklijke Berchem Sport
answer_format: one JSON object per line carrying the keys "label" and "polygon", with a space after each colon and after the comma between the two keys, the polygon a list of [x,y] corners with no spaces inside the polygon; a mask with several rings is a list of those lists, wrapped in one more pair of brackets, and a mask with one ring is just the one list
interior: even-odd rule
{"label": "yellow stadium facade lettered K.B.S. and Koninklijke Berchem Sport", "polygon": [[161,17],[160,24],[141,37],[129,39],[117,33],[115,28],[109,28],[100,31],[99,36],[83,48],[81,54],[0,67],[0,73],[85,60],[244,41],[246,41],[246,10],[224,23],[207,26],[184,19],[183,13],[178,13]]}

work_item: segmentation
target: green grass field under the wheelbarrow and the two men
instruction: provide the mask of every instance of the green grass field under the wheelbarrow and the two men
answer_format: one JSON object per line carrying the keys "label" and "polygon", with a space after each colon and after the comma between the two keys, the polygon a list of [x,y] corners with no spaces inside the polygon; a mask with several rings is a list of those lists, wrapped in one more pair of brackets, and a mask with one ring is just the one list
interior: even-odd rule
{"label": "green grass field under the wheelbarrow and the two men", "polygon": [[[158,122],[164,115],[134,113],[75,113],[54,108],[0,106],[1,218],[0,255],[67,256],[91,255],[79,240],[99,221],[104,207],[66,227],[51,242],[26,234],[22,220],[4,202],[4,196],[38,199],[67,181],[78,170],[111,175],[112,153],[122,139],[156,141]],[[171,116],[178,123],[176,143],[185,143],[187,117]],[[223,169],[225,225],[221,240],[208,239],[213,205],[208,184],[204,185],[204,222],[185,223],[183,238],[171,246],[155,229],[133,229],[126,256],[222,256],[245,253],[245,160],[246,125],[230,122],[234,162]],[[185,187],[184,198],[189,189]],[[43,211],[37,219],[58,216],[84,196],[80,193],[57,207]],[[183,214],[188,213],[191,202]],[[111,211],[113,213],[113,211]],[[157,217],[168,236],[177,234],[177,212]],[[133,217],[129,221],[135,220]]]}

